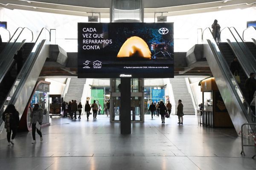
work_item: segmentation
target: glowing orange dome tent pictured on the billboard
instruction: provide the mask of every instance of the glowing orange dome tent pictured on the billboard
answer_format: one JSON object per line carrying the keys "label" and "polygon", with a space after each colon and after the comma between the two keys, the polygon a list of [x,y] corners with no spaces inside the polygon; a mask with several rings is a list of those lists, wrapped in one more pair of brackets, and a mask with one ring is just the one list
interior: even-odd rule
{"label": "glowing orange dome tent pictured on the billboard", "polygon": [[151,52],[147,43],[142,38],[134,36],[125,41],[117,57],[142,57],[151,59]]}

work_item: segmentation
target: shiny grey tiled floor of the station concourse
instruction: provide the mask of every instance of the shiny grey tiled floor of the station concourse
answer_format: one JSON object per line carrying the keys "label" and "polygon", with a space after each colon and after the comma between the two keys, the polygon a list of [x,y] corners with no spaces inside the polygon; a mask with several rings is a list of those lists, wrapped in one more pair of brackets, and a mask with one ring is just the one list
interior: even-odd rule
{"label": "shiny grey tiled floor of the station concourse", "polygon": [[52,118],[43,142],[31,144],[31,132],[19,133],[14,146],[0,140],[0,170],[256,170],[253,147],[241,157],[241,138],[233,129],[200,127],[195,116],[177,124],[171,116],[145,116],[131,135],[105,115],[89,121]]}

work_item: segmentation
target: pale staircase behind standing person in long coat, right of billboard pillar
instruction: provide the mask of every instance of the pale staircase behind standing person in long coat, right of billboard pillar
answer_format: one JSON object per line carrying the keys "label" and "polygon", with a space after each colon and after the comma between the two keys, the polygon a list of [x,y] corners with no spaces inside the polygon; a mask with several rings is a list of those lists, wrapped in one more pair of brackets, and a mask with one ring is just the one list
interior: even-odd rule
{"label": "pale staircase behind standing person in long coat, right of billboard pillar", "polygon": [[195,109],[185,78],[173,78],[170,79],[170,83],[172,84],[172,91],[175,99],[175,114],[177,113],[178,100],[181,99],[183,104],[183,113],[185,115],[194,115]]}

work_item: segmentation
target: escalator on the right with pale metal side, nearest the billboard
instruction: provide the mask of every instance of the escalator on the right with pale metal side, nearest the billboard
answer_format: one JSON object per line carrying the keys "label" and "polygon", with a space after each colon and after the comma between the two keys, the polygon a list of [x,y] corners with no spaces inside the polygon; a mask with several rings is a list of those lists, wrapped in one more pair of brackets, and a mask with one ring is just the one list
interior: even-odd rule
{"label": "escalator on the right with pale metal side, nearest the billboard", "polygon": [[[241,125],[247,122],[253,122],[253,112],[250,104],[247,102],[248,96],[244,88],[245,79],[248,78],[249,71],[253,69],[251,65],[245,61],[248,56],[241,49],[241,42],[232,37],[227,42],[216,43],[212,37],[210,28],[206,28],[203,32],[204,57],[206,57],[209,67],[215,77],[216,84],[221,93],[227,111],[236,129],[239,133]],[[233,35],[232,35],[233,36]],[[222,40],[224,40],[222,38]],[[239,76],[241,83],[236,82],[230,71],[230,63],[234,57],[238,58],[241,66]],[[253,61],[252,61],[253,62]],[[247,68],[245,66],[247,65]],[[249,73],[248,73],[249,72]],[[250,130],[254,130],[254,126],[250,126]]]}

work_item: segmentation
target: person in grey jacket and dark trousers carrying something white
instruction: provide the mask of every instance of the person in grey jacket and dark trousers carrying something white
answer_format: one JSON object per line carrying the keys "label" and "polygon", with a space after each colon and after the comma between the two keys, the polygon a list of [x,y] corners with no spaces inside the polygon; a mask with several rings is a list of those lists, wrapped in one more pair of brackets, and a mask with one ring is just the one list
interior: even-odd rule
{"label": "person in grey jacket and dark trousers carrying something white", "polygon": [[32,124],[32,137],[33,137],[33,140],[34,140],[32,142],[32,144],[36,143],[36,140],[35,140],[35,130],[37,131],[38,135],[40,136],[40,141],[41,142],[43,141],[43,136],[42,136],[42,133],[41,133],[41,128],[38,129],[36,127],[37,122],[39,123],[39,125],[42,125],[43,117],[44,117],[43,113],[44,113],[44,109],[39,108],[39,104],[38,103],[35,104],[35,106],[33,108],[33,111],[30,114],[31,124]]}

